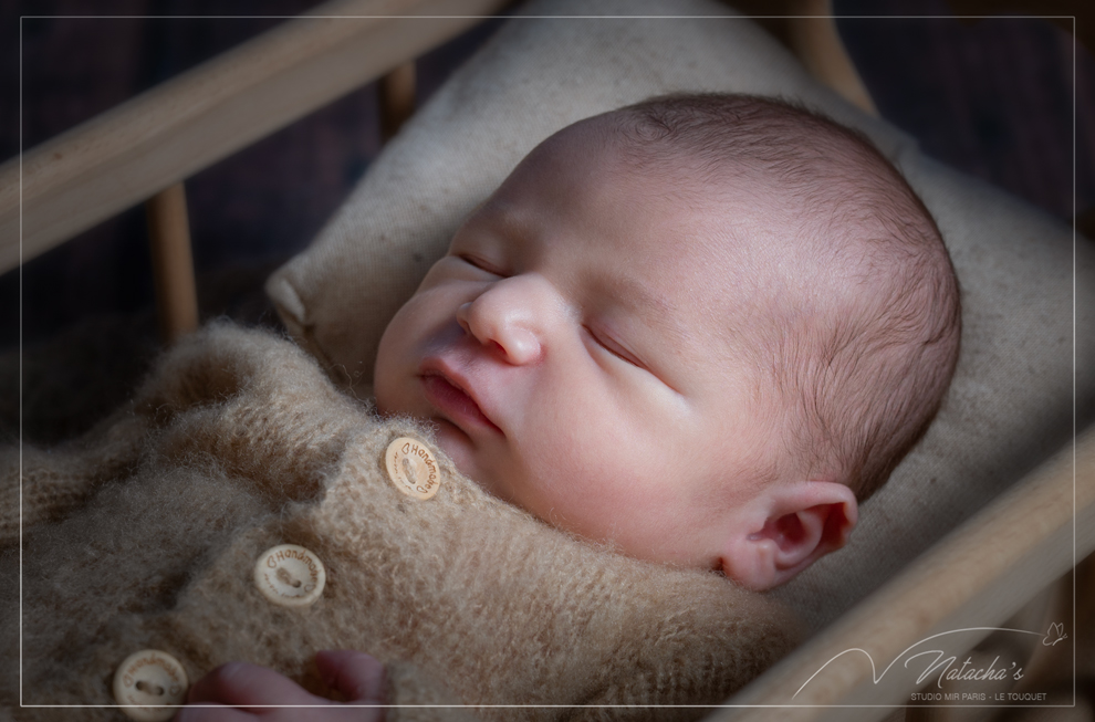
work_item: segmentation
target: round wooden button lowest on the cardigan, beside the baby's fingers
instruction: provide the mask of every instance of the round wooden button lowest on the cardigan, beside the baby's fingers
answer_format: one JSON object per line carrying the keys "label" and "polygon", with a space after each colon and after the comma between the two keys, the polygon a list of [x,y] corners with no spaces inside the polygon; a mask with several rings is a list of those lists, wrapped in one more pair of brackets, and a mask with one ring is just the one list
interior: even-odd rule
{"label": "round wooden button lowest on the cardigan, beside the baby's fingers", "polygon": [[126,657],[114,672],[114,700],[131,720],[170,720],[186,699],[189,681],[179,660],[158,649]]}

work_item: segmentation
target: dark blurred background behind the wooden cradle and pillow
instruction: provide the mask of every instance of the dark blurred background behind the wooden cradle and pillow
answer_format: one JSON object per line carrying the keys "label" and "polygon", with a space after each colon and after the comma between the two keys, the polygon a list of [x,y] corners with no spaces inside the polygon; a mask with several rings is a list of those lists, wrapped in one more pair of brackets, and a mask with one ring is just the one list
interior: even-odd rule
{"label": "dark blurred background behind the wooden cradle and pillow", "polygon": [[[0,0],[0,161],[316,4]],[[1083,45],[1074,52],[1071,19],[956,17],[984,14],[985,4],[1014,9],[968,0],[836,0],[834,10],[883,117],[927,154],[1053,216],[1089,223],[1092,55]],[[1082,4],[1058,2],[1042,12],[1073,14],[1073,7]],[[116,17],[75,17],[88,14]],[[499,24],[490,21],[419,59],[419,103]],[[378,153],[376,97],[375,85],[363,87],[188,179],[205,317],[227,313],[277,324],[262,281],[309,243]],[[25,419],[32,439],[54,441],[85,428],[124,399],[146,368],[157,341],[145,223],[143,208],[132,209],[30,260],[21,278],[18,271],[0,276],[0,350],[7,349],[0,433],[18,428],[12,384],[20,329],[24,402],[55,409]]]}

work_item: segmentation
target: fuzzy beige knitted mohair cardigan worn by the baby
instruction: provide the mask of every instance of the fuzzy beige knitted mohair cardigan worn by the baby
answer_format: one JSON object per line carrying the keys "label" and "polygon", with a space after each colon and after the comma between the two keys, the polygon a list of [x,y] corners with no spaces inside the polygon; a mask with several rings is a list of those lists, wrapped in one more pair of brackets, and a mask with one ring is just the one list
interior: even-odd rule
{"label": "fuzzy beige knitted mohair cardigan worn by the baby", "polygon": [[[216,324],[166,354],[132,404],[80,440],[23,449],[22,700],[114,704],[132,652],[191,683],[243,660],[326,692],[321,649],[388,665],[389,702],[718,703],[793,645],[796,626],[726,578],[623,557],[500,502],[439,454],[430,500],[384,468],[408,419],[380,420],[268,332]],[[18,449],[4,462],[0,702],[18,709]],[[611,472],[611,470],[606,470]],[[255,559],[299,544],[322,597],[270,603]],[[388,719],[693,718],[703,710],[408,708]]]}

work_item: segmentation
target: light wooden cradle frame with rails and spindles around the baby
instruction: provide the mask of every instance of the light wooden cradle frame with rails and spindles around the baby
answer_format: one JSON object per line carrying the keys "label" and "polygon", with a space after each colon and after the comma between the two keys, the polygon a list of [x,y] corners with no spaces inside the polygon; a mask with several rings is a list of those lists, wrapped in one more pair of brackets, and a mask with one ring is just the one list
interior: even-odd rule
{"label": "light wooden cradle frame with rails and spindles around the baby", "polygon": [[[414,59],[504,4],[336,0],[312,14],[375,17],[284,23],[34,148],[0,167],[0,270],[147,200],[161,328],[168,342],[187,333],[197,324],[197,302],[182,181],[377,79],[384,124],[394,133],[413,111]],[[788,28],[804,64],[873,111],[832,19],[818,17],[826,14],[826,4],[803,7],[802,15],[814,17],[792,18]],[[105,177],[113,182],[101,182]],[[159,192],[148,199],[153,189]],[[896,676],[879,680],[882,670],[863,656],[842,652],[866,636],[880,667],[877,660],[897,659],[940,631],[1003,626],[1024,606],[1031,624],[1042,624],[1042,617],[1071,620],[1072,641],[1082,642],[1086,634],[1089,643],[1095,563],[1077,562],[1092,551],[1095,431],[1088,429],[711,719],[950,719],[945,707],[897,707],[908,704],[916,686]],[[967,649],[988,634],[971,635]],[[1076,680],[1070,674],[1082,653],[1095,652],[1078,643],[1036,648],[1026,687],[1031,680],[1056,680],[1058,689],[1072,689],[1075,700]],[[807,687],[823,667],[823,683]]]}

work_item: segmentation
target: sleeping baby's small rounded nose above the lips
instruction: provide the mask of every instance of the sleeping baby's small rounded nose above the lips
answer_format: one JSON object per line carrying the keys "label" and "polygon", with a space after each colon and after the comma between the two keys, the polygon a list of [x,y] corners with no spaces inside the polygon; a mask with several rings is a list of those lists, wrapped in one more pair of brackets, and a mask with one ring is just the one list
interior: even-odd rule
{"label": "sleeping baby's small rounded nose above the lips", "polygon": [[460,306],[457,322],[467,334],[497,350],[514,366],[534,364],[543,356],[543,300],[528,283],[499,281]]}

